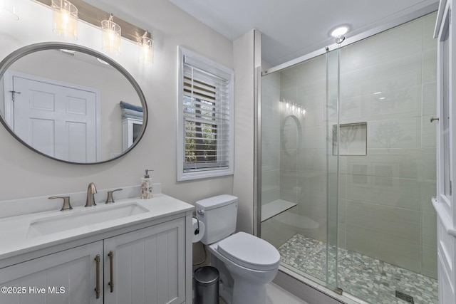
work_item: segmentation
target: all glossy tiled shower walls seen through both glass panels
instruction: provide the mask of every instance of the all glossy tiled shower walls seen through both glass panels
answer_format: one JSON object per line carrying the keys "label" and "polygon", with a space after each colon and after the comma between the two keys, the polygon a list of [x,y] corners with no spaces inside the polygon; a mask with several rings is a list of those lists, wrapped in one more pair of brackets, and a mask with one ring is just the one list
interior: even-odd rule
{"label": "all glossy tiled shower walls seen through both glass panels", "polygon": [[339,105],[325,55],[262,78],[261,204],[296,204],[263,222],[264,239],[326,242],[334,175],[338,247],[437,278],[435,16],[341,48]]}

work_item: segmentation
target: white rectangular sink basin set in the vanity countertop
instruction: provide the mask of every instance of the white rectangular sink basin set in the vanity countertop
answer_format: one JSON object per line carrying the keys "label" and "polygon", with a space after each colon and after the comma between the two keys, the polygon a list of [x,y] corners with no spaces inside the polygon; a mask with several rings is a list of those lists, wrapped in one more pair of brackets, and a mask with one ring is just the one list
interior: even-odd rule
{"label": "white rectangular sink basin set in the vanity countertop", "polygon": [[103,221],[142,214],[147,211],[149,210],[137,203],[118,206],[93,206],[78,211],[66,211],[56,216],[48,216],[32,221],[28,227],[26,237],[30,239],[36,236],[46,236],[47,234],[55,234],[56,232],[99,224]]}

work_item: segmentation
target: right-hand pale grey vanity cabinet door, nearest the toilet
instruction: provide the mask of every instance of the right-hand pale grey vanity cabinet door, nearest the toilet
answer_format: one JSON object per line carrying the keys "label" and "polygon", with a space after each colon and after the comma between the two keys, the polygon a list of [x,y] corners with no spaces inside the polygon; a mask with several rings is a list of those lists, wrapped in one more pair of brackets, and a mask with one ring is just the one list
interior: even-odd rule
{"label": "right-hand pale grey vanity cabinet door, nearest the toilet", "polygon": [[104,245],[105,304],[185,301],[185,218],[105,239]]}

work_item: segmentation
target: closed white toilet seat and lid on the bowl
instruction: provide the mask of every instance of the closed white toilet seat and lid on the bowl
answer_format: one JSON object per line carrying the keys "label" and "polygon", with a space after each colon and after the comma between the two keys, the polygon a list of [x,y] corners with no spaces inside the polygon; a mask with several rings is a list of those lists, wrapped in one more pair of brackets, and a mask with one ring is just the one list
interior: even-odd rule
{"label": "closed white toilet seat and lid on the bowl", "polygon": [[252,234],[238,232],[219,241],[219,253],[231,261],[258,271],[269,271],[279,267],[280,253],[270,243]]}

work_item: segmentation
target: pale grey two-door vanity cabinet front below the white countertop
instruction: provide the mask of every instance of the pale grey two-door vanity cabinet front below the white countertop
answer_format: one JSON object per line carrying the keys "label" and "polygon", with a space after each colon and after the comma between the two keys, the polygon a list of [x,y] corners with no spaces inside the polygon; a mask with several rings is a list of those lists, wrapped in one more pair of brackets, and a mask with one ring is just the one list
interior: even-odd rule
{"label": "pale grey two-door vanity cabinet front below the white countertop", "polygon": [[140,229],[132,226],[115,236],[1,268],[0,287],[11,288],[11,294],[2,290],[0,303],[185,303],[192,298],[187,295],[189,216]]}

